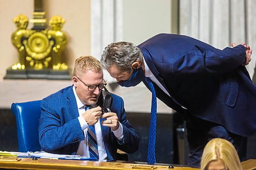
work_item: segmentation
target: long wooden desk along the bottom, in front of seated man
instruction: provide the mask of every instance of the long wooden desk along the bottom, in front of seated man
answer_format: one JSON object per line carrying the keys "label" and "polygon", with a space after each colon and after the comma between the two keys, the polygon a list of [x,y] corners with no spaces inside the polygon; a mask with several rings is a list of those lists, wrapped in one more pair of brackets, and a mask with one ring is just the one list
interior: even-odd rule
{"label": "long wooden desk along the bottom, in front of seated man", "polygon": [[[10,169],[156,169],[169,170],[168,165],[147,165],[137,163],[122,162],[96,162],[96,161],[79,161],[79,160],[54,160],[54,159],[37,159],[22,158],[19,161],[0,161],[0,168]],[[199,170],[191,167],[177,167],[174,169]]]}

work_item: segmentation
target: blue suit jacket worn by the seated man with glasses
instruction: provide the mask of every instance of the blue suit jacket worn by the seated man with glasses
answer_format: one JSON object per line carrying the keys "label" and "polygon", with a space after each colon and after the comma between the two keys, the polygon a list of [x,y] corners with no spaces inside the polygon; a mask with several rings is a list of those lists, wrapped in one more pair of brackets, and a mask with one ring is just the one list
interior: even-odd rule
{"label": "blue suit jacket worn by the seated man with glasses", "polygon": [[[123,100],[112,95],[110,110],[123,125],[123,141],[119,143],[109,127],[101,126],[108,160],[116,160],[117,149],[134,153],[139,147],[139,138],[126,119]],[[42,150],[55,154],[75,155],[84,134],[78,121],[78,110],[72,86],[61,89],[41,101],[39,119],[39,142]],[[101,118],[100,118],[101,121]]]}

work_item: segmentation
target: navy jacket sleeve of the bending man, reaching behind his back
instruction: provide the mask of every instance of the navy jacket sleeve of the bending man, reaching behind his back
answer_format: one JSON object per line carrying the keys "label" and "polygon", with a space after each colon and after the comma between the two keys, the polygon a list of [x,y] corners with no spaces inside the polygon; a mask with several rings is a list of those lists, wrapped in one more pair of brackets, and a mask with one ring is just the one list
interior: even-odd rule
{"label": "navy jacket sleeve of the bending man, reaching behind his back", "polygon": [[177,57],[172,64],[172,72],[178,76],[222,75],[245,62],[245,47],[238,45],[224,50],[196,46],[185,55]]}

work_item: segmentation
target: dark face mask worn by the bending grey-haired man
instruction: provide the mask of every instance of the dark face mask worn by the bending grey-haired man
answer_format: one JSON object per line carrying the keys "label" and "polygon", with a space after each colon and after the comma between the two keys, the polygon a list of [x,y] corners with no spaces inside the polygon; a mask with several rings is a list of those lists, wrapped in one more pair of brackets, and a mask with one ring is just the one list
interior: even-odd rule
{"label": "dark face mask worn by the bending grey-haired man", "polygon": [[128,80],[123,80],[118,82],[118,84],[122,87],[132,87],[139,84],[144,78],[142,67],[140,66],[138,69],[134,69],[132,75]]}

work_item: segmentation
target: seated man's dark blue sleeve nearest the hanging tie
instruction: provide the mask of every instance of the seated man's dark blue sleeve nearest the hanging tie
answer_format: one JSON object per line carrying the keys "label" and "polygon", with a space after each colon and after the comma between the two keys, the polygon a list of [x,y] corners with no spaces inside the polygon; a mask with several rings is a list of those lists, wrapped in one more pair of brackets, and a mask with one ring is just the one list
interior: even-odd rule
{"label": "seated man's dark blue sleeve nearest the hanging tie", "polygon": [[139,137],[132,125],[126,119],[126,113],[123,106],[123,100],[121,100],[121,114],[118,117],[119,122],[123,125],[123,140],[122,142],[117,142],[117,148],[123,152],[132,154],[136,152],[139,148]]}

